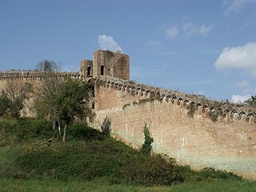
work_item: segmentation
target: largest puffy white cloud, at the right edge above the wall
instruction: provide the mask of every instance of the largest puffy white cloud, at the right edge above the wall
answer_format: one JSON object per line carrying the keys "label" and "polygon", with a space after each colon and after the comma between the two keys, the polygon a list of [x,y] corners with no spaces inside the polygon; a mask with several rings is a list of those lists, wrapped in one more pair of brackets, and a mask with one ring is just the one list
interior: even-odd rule
{"label": "largest puffy white cloud, at the right edge above the wall", "polygon": [[226,47],[214,62],[218,70],[232,68],[248,71],[256,77],[256,42],[244,46]]}

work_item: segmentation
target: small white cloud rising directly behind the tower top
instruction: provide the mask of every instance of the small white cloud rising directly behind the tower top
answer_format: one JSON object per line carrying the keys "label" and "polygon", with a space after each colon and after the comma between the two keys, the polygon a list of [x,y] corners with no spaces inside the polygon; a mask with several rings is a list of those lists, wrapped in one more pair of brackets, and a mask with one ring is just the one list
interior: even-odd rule
{"label": "small white cloud rising directly behind the tower top", "polygon": [[114,41],[114,38],[107,36],[106,34],[98,35],[98,44],[102,50],[112,50],[112,51],[121,51],[121,46],[118,46],[118,43]]}

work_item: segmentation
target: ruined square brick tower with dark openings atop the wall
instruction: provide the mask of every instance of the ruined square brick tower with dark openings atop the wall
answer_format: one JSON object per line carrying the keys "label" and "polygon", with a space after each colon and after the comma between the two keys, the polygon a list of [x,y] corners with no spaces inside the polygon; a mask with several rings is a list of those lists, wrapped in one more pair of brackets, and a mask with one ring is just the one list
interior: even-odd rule
{"label": "ruined square brick tower with dark openings atop the wall", "polygon": [[95,50],[93,61],[82,60],[80,73],[88,78],[101,75],[130,80],[130,58],[127,54],[114,53],[110,50]]}

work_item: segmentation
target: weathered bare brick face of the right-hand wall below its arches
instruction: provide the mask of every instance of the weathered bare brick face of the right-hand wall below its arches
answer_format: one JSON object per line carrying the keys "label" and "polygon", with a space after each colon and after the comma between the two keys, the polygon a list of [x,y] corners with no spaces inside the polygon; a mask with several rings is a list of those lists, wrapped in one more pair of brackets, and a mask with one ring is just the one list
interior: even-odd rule
{"label": "weathered bare brick face of the right-hand wall below its arches", "polygon": [[202,113],[201,107],[195,111],[194,118],[189,118],[187,105],[166,102],[166,99],[139,103],[139,99],[142,96],[98,84],[95,91],[98,126],[109,116],[112,135],[139,148],[146,123],[154,138],[154,152],[168,154],[179,163],[195,168],[214,166],[256,179],[253,118],[247,122],[246,118],[239,120],[227,114],[213,122],[207,111]]}

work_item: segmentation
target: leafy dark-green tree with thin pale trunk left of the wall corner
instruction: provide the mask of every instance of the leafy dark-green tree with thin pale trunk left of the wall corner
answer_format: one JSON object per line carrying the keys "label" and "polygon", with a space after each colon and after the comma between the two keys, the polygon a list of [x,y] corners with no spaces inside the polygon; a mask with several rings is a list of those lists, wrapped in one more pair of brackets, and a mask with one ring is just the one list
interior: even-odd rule
{"label": "leafy dark-green tree with thin pale trunk left of the wall corner", "polygon": [[67,127],[74,118],[85,116],[86,106],[82,105],[84,99],[89,98],[86,82],[69,78],[62,84],[61,90],[56,95],[57,111],[64,124],[62,142],[66,142]]}

